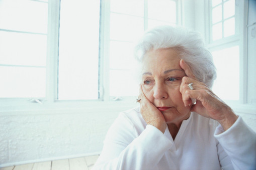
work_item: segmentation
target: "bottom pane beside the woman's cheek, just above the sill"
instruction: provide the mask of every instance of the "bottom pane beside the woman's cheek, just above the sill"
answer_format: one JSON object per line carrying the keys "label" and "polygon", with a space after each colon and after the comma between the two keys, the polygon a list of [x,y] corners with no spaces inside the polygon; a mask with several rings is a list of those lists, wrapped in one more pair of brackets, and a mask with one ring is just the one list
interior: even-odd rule
{"label": "bottom pane beside the woman's cheek, just above the sill", "polygon": [[110,96],[138,96],[139,84],[132,71],[110,70]]}

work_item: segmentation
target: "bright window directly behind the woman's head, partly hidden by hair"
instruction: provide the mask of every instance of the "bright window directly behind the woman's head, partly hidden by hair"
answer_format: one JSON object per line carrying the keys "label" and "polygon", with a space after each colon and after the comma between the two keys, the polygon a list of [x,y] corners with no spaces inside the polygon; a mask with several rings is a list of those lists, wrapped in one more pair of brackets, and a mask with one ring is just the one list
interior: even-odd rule
{"label": "bright window directly behind the woman's head, partly hidden by hair", "polygon": [[139,86],[132,70],[135,64],[133,43],[148,28],[176,25],[176,2],[112,0],[110,9],[109,94],[112,97],[137,96]]}

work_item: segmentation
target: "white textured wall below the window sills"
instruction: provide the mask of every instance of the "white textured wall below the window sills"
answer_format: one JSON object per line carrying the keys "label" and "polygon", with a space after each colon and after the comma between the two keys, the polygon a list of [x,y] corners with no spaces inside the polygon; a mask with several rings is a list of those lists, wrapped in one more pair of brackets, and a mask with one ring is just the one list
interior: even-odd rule
{"label": "white textured wall below the window sills", "polygon": [[[0,167],[100,153],[119,111],[0,116]],[[256,114],[238,113],[256,131]]]}

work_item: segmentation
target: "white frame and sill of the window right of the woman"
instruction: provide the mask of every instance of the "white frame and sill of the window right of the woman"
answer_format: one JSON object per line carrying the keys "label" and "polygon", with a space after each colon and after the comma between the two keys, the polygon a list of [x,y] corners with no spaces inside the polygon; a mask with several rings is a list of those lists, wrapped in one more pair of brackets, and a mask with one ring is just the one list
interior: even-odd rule
{"label": "white frame and sill of the window right of the woman", "polygon": [[[205,2],[205,15],[206,19],[206,45],[210,51],[221,50],[231,46],[239,46],[239,100],[231,101],[224,100],[228,105],[239,113],[256,114],[256,106],[247,104],[247,7],[248,1],[239,0],[235,1],[235,22],[239,23],[235,25],[235,35],[223,38],[222,40],[212,41],[211,37],[211,1]],[[223,15],[223,14],[222,14]],[[237,83],[237,82],[234,82]]]}

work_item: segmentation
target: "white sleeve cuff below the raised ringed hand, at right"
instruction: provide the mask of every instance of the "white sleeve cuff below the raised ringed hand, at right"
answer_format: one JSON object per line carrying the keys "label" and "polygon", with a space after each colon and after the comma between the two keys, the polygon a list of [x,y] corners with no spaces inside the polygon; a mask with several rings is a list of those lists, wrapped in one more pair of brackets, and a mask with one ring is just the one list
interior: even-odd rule
{"label": "white sleeve cuff below the raised ringed hand, at right", "polygon": [[256,133],[240,116],[226,131],[217,126],[214,136],[221,145],[218,153],[223,169],[230,169],[230,161],[234,169],[256,169]]}

